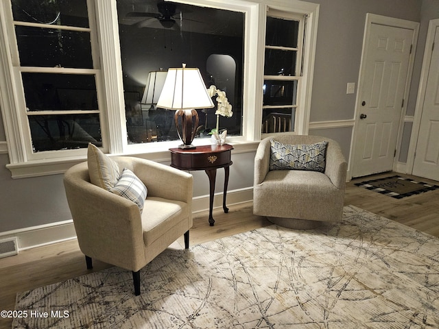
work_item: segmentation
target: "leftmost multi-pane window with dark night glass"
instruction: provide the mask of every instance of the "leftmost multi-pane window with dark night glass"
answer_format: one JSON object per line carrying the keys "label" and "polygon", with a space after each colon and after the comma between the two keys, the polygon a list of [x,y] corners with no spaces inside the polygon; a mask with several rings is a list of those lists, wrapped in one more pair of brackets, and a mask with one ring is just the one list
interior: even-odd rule
{"label": "leftmost multi-pane window with dark night glass", "polygon": [[29,151],[102,145],[86,0],[12,0],[11,6]]}

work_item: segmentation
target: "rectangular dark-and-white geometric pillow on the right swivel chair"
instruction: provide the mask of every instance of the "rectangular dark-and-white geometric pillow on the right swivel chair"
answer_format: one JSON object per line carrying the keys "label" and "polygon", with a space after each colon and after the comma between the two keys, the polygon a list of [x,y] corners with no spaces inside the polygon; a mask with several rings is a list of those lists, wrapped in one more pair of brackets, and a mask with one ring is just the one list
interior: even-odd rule
{"label": "rectangular dark-and-white geometric pillow on the right swivel chair", "polygon": [[324,172],[328,142],[309,145],[287,145],[271,142],[270,170],[309,170]]}

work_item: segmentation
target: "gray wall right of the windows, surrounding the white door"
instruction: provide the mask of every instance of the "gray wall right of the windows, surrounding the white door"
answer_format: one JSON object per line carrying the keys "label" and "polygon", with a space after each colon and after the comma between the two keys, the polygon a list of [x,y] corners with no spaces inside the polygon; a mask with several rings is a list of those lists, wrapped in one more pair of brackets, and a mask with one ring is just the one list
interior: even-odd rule
{"label": "gray wall right of the windows, surrounding the white door", "polygon": [[[436,16],[439,17],[439,1],[424,0],[425,4],[422,8],[421,1],[418,0],[311,0],[310,2],[320,3],[310,122],[355,119],[355,97],[367,13],[421,22],[414,75],[407,103],[407,115],[413,115],[427,34],[427,28],[423,29],[423,27],[425,21],[427,20],[428,25],[431,15],[435,15],[432,13],[436,12]],[[423,16],[427,12],[430,16],[424,19]],[[346,94],[348,82],[355,82],[355,94]],[[403,132],[405,138],[399,158],[403,162],[407,160],[410,142],[407,136],[410,136],[411,127],[412,125],[405,125]],[[310,130],[309,134],[322,134],[335,139],[342,144],[342,147],[344,146],[346,158],[349,157],[352,129],[342,127],[332,130]]]}

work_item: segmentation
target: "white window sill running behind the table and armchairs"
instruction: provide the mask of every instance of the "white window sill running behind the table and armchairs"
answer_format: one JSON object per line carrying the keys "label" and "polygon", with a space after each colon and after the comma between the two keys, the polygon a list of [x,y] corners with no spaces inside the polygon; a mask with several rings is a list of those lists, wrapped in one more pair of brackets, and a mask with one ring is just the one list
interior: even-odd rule
{"label": "white window sill running behind the table and armchairs", "polygon": [[[229,144],[233,145],[233,154],[250,153],[256,151],[259,141],[233,141],[233,137],[230,138]],[[202,140],[195,145],[206,145],[206,140]],[[169,144],[169,147],[176,147],[178,142],[174,141]],[[156,162],[170,162],[171,156],[168,151],[169,147],[151,147],[151,150],[145,150],[145,147],[136,147],[126,152],[125,154],[110,154],[110,156],[136,156],[138,158],[145,158]],[[168,146],[168,145],[167,145]],[[45,175],[58,175],[64,173],[67,169],[75,164],[86,161],[86,156],[78,156],[71,158],[58,158],[58,159],[46,159],[46,160],[32,160],[19,164],[6,164],[12,173],[12,178],[31,178]]]}

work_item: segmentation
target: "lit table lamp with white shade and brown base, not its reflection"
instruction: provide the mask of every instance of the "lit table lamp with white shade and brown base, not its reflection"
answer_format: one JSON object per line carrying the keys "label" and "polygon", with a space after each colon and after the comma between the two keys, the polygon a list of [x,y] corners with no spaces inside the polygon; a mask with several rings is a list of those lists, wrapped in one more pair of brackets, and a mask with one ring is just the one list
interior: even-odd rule
{"label": "lit table lamp with white shade and brown base, not its reflection", "polygon": [[198,128],[197,108],[213,108],[213,101],[196,68],[171,68],[167,71],[162,93],[157,101],[158,108],[176,110],[174,121],[178,137],[183,142],[180,149],[195,149],[192,145]]}

